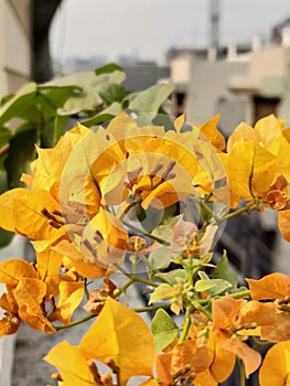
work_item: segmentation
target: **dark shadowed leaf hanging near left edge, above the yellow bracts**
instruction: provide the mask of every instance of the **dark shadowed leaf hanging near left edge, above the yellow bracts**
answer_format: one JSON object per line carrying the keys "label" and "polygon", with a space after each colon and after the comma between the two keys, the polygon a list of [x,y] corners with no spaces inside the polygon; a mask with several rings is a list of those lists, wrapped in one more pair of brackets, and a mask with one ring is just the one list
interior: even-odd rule
{"label": "dark shadowed leaf hanging near left edge, above the yellow bracts", "polygon": [[[29,129],[25,129],[28,127]],[[30,125],[22,126],[11,139],[9,154],[4,161],[9,189],[21,185],[20,176],[22,172],[29,170],[30,162],[35,158],[37,140],[39,132],[36,129],[31,129]]]}

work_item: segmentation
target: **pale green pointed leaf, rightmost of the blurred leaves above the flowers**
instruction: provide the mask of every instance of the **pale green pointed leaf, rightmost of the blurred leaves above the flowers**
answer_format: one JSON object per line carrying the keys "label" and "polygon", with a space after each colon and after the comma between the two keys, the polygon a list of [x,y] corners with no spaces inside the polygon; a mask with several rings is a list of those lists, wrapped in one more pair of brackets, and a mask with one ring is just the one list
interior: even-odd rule
{"label": "pale green pointed leaf, rightmost of the blurred leaves above the flowers", "polygon": [[133,95],[133,99],[129,103],[129,108],[142,112],[158,112],[174,88],[173,83],[149,87]]}

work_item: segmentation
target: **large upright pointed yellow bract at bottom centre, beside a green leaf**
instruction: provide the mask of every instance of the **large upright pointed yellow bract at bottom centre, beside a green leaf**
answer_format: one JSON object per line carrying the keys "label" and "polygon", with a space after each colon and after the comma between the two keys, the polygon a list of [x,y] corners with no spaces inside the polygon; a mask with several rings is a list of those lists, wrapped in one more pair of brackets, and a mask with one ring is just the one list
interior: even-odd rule
{"label": "large upright pointed yellow bract at bottom centre, beside a green leaf", "polygon": [[152,376],[153,335],[141,317],[111,298],[80,341],[79,350],[88,360],[114,364],[120,386],[136,375]]}

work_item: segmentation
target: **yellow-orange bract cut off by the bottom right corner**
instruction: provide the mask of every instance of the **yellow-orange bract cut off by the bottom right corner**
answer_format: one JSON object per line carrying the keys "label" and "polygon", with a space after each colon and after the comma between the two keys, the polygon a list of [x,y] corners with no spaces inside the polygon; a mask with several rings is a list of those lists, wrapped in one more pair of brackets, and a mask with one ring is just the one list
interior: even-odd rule
{"label": "yellow-orange bract cut off by the bottom right corner", "polygon": [[267,352],[259,372],[260,386],[290,385],[290,341],[279,342]]}

